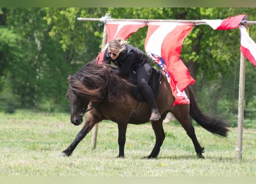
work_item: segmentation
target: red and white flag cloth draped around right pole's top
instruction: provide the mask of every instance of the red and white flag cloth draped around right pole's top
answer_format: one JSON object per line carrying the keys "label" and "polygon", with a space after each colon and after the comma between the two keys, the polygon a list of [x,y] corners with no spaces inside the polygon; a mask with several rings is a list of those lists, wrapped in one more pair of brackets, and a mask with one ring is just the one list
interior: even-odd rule
{"label": "red and white flag cloth draped around right pole's top", "polygon": [[251,63],[254,64],[254,66],[256,66],[256,44],[250,38],[246,28],[240,25],[240,22],[246,16],[247,15],[242,14],[235,17],[228,17],[225,20],[204,20],[204,21],[209,26],[211,26],[213,29],[216,29],[216,30],[217,29],[219,30],[235,29],[239,27],[240,34],[241,34],[240,51]]}

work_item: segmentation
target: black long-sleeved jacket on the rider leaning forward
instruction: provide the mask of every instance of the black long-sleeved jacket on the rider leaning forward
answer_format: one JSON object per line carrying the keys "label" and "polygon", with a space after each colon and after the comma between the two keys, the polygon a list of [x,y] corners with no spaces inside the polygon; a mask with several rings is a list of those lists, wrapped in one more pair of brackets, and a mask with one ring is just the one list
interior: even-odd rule
{"label": "black long-sleeved jacket on the rider leaning forward", "polygon": [[129,71],[136,70],[137,67],[142,66],[146,62],[150,62],[148,56],[137,49],[132,47],[132,45],[125,45],[124,51],[119,53],[119,56],[116,60],[113,60],[109,54],[108,49],[104,53],[104,62],[111,63],[113,62],[116,66],[119,67],[117,71],[121,76],[128,75]]}

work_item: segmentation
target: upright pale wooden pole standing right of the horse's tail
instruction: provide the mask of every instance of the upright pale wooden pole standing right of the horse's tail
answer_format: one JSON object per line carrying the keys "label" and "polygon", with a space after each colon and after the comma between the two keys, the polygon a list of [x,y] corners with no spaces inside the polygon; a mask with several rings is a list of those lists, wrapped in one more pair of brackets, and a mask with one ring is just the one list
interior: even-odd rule
{"label": "upright pale wooden pole standing right of the horse's tail", "polygon": [[244,113],[244,83],[245,83],[245,57],[240,53],[239,98],[238,98],[238,144],[236,147],[236,162],[242,159],[243,153],[243,113]]}

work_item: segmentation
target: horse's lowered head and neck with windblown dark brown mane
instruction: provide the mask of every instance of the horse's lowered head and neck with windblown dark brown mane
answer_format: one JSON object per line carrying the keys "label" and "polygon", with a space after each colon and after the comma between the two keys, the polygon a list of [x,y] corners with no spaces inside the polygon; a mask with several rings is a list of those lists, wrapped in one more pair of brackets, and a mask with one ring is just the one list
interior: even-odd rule
{"label": "horse's lowered head and neck with windblown dark brown mane", "polygon": [[130,87],[131,83],[112,72],[109,64],[87,63],[76,74],[68,76],[67,97],[70,101],[72,124],[82,123],[83,113],[89,102],[113,102]]}

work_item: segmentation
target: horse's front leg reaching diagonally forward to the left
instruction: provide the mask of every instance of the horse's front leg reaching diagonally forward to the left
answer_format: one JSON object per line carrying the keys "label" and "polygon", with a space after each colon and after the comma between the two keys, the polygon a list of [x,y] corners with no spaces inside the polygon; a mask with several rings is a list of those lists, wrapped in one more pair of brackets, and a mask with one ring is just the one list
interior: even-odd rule
{"label": "horse's front leg reaching diagonally forward to the left", "polygon": [[75,137],[75,140],[67,147],[66,150],[62,151],[60,156],[70,156],[77,147],[77,145],[80,143],[80,141],[87,135],[87,133],[91,131],[96,122],[99,121],[95,121],[93,117],[87,113],[85,125],[83,126],[81,131],[79,131],[78,135]]}

